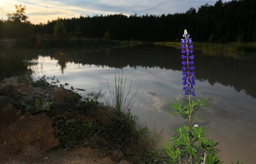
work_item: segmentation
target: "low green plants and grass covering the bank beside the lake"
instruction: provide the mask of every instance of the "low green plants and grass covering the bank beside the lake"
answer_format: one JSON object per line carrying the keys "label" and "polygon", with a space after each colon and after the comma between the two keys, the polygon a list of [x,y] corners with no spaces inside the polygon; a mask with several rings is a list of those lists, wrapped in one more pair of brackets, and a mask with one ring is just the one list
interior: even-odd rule
{"label": "low green plants and grass covering the bank beside the lake", "polygon": [[[116,85],[124,88],[124,84],[119,84],[123,81],[123,76],[119,79]],[[114,161],[117,159],[114,159],[116,157],[113,157],[113,151],[134,157],[133,160],[140,164],[155,164],[159,160],[160,150],[155,150],[155,146],[160,141],[162,131],[157,133],[150,131],[147,126],[138,125],[138,117],[130,112],[132,104],[125,109],[121,106],[118,110],[116,106],[104,106],[101,100],[104,99],[105,93],[101,90],[87,92],[72,86],[67,90],[64,87],[69,84],[60,84],[55,77],[43,76],[33,80],[30,75],[25,75],[19,76],[18,80],[31,85],[38,92],[29,95],[18,91],[12,104],[20,109],[23,115],[46,113],[53,118],[52,126],[56,129],[54,135],[60,144],[52,148],[52,151],[59,148],[69,151],[79,147],[91,147],[100,149]],[[65,90],[73,99],[64,97],[61,103],[53,101],[54,94],[49,89]],[[119,91],[116,90],[115,93]],[[82,95],[81,92],[85,94]],[[9,90],[1,94],[12,96],[11,93],[10,86]],[[128,99],[123,95],[122,90],[119,100]],[[130,102],[132,101],[133,99]]]}

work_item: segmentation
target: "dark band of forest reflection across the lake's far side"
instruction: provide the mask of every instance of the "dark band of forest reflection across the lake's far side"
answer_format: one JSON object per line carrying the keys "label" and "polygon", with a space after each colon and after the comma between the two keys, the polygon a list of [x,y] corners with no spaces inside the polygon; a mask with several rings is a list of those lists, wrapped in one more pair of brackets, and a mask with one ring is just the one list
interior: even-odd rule
{"label": "dark band of forest reflection across the lake's far side", "polygon": [[[38,53],[37,53],[38,54]],[[40,52],[39,52],[40,54]],[[39,55],[38,54],[38,55]],[[197,80],[207,80],[211,85],[216,83],[232,86],[236,91],[244,91],[256,98],[256,55],[243,54],[243,58],[232,58],[211,55],[196,54]],[[67,69],[67,63],[79,65],[96,65],[97,67],[109,67],[123,69],[130,67],[136,69],[142,67],[171,69],[180,71],[180,51],[170,47],[139,45],[126,48],[112,49],[65,49],[52,50],[42,56],[50,56],[57,60],[62,74]]]}

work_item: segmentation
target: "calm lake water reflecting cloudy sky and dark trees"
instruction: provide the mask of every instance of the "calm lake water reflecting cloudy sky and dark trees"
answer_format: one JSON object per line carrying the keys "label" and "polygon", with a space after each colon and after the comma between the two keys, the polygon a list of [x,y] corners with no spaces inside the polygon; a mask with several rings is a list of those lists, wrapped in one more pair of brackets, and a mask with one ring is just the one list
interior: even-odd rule
{"label": "calm lake water reflecting cloudy sky and dark trees", "polygon": [[[32,51],[26,61],[35,79],[55,76],[70,89],[112,91],[115,75],[123,73],[126,86],[132,81],[131,95],[138,89],[132,114],[150,129],[163,128],[163,140],[174,135],[174,127],[184,123],[180,116],[172,117],[170,104],[186,101],[182,90],[181,53],[179,49],[138,45],[126,48],[70,48]],[[212,97],[210,107],[200,109],[199,125],[208,127],[209,139],[218,141],[219,157],[225,164],[240,160],[256,163],[256,55],[194,52],[196,66],[196,96]],[[103,102],[106,102],[105,100]],[[163,142],[161,141],[160,144]],[[163,144],[162,144],[163,145]]]}

